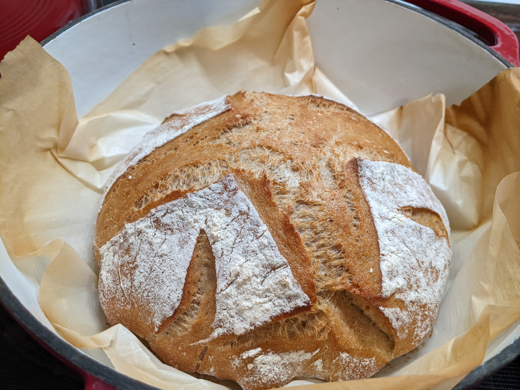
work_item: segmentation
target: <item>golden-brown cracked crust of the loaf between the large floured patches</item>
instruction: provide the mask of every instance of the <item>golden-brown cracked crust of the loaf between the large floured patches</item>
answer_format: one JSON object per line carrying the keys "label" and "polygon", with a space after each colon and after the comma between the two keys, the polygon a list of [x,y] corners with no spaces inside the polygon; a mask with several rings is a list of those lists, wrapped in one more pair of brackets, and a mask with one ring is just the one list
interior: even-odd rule
{"label": "golden-brown cracked crust of the loaf between the large floured patches", "polygon": [[[425,332],[414,332],[417,320],[395,329],[381,309],[405,303],[395,294],[383,297],[378,232],[358,164],[385,161],[413,170],[409,160],[382,129],[331,100],[240,92],[227,104],[227,111],[128,166],[108,189],[96,223],[96,258],[102,269],[100,248],[126,224],[232,175],[310,303],[243,334],[208,339],[217,279],[212,246],[201,230],[174,314],[153,329],[142,308],[121,310],[105,299],[110,323],[148,341],[168,365],[248,390],[298,378],[371,376],[417,346]],[[412,206],[400,211],[447,238],[438,213]],[[421,327],[431,329],[436,306],[415,310]]]}

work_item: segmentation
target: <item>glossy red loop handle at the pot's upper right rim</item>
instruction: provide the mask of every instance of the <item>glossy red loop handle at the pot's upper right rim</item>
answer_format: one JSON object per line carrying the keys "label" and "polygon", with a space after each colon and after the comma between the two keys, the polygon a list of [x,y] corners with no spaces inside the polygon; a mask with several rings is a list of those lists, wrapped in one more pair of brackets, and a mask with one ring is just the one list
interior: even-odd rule
{"label": "glossy red loop handle at the pot's upper right rim", "polygon": [[458,0],[406,0],[406,2],[432,11],[480,34],[488,40],[493,50],[515,67],[520,67],[518,38],[500,20]]}

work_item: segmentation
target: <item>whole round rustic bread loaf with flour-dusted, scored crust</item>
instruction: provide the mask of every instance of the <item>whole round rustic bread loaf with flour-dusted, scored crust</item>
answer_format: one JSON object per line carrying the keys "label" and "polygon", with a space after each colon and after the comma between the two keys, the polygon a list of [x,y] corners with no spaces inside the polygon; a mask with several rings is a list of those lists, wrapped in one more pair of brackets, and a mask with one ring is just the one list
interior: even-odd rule
{"label": "whole round rustic bread loaf with flour-dusted, scored crust", "polygon": [[109,179],[99,296],[179,370],[247,390],[368,378],[430,332],[448,229],[361,114],[240,92],[171,115]]}

